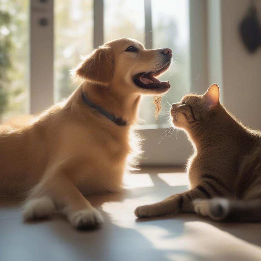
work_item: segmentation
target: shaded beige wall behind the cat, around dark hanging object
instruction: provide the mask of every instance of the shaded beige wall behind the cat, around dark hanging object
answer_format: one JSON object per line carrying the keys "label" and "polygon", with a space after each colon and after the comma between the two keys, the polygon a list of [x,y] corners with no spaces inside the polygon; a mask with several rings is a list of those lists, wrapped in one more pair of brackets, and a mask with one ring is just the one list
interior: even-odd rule
{"label": "shaded beige wall behind the cat, around dark hanging object", "polygon": [[[254,1],[261,26],[261,1]],[[261,130],[261,47],[250,54],[239,35],[249,0],[221,0],[223,97],[226,108]]]}

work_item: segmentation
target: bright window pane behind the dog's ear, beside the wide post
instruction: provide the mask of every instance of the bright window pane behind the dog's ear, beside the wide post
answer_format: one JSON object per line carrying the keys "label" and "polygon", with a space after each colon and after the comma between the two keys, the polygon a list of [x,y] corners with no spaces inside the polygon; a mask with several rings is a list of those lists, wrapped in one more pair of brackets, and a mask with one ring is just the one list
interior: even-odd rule
{"label": "bright window pane behind the dog's ear, beside the wide post", "polygon": [[70,70],[93,48],[93,0],[55,1],[55,102],[68,97],[78,86]]}

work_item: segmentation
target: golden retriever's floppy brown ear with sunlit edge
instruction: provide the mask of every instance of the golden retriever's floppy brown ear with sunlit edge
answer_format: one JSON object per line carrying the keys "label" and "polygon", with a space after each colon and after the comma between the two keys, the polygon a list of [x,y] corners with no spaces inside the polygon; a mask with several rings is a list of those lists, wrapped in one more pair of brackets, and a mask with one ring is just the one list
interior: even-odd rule
{"label": "golden retriever's floppy brown ear with sunlit edge", "polygon": [[110,47],[101,46],[74,70],[75,78],[84,78],[99,84],[108,85],[113,77],[113,55]]}

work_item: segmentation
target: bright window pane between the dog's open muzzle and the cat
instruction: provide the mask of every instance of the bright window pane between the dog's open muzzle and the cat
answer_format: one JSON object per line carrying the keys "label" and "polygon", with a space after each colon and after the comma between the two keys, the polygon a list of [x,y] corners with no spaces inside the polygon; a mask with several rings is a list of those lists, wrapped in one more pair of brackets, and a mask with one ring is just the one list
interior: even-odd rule
{"label": "bright window pane between the dog's open muzzle and the cat", "polygon": [[172,87],[162,99],[165,109],[162,109],[157,121],[153,116],[151,97],[146,97],[146,103],[142,104],[140,117],[146,120],[145,124],[166,124],[170,108],[168,103],[178,102],[188,93],[190,85],[189,1],[152,0],[152,30],[153,48],[167,47],[172,50],[173,64],[159,78],[169,80]]}

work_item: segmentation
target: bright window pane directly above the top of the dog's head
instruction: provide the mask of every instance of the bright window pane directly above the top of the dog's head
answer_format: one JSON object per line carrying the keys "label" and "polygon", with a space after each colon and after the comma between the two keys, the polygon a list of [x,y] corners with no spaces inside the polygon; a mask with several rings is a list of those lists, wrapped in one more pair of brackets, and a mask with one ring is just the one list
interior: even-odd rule
{"label": "bright window pane directly above the top of the dog's head", "polygon": [[104,0],[104,42],[127,37],[144,37],[144,2],[140,0]]}

